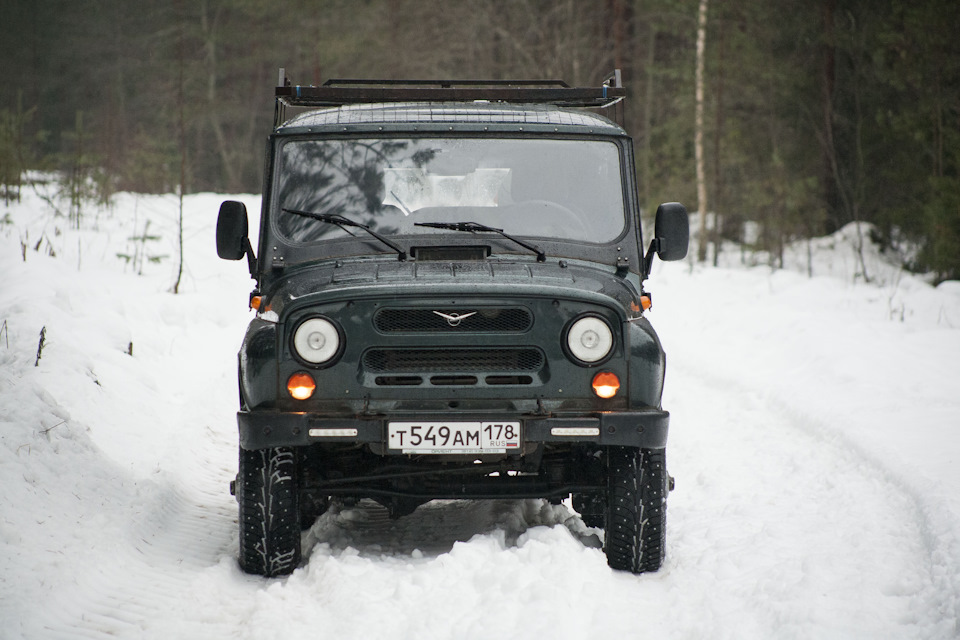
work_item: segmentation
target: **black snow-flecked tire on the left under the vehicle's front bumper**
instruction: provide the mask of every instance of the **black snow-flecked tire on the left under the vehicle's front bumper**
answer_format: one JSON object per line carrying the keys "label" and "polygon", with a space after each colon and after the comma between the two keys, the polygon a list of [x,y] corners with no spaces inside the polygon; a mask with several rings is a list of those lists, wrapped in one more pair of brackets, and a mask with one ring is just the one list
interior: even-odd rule
{"label": "black snow-flecked tire on the left under the vehicle's front bumper", "polygon": [[289,447],[240,449],[240,567],[273,577],[300,564],[297,455]]}

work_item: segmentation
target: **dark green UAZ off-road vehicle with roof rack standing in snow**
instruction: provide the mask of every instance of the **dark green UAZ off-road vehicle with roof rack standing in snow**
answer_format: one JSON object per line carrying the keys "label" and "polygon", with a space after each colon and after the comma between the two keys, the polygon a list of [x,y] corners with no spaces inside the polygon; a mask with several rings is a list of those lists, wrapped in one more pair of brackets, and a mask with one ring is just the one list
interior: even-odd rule
{"label": "dark green UAZ off-road vehicle with roof rack standing in snow", "polygon": [[[257,310],[239,354],[240,564],[287,574],[332,500],[572,494],[611,567],[663,562],[664,354],[644,316],[631,139],[562,82],[331,81],[281,70],[257,256],[224,202],[222,258]],[[289,120],[289,107],[309,107]]]}

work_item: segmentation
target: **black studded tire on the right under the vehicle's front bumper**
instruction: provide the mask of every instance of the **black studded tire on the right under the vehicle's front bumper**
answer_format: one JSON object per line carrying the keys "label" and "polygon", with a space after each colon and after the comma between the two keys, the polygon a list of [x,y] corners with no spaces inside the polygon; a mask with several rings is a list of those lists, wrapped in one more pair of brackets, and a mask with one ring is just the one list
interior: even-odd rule
{"label": "black studded tire on the right under the vehicle's front bumper", "polygon": [[668,482],[664,450],[610,448],[604,551],[612,568],[645,573],[663,564]]}

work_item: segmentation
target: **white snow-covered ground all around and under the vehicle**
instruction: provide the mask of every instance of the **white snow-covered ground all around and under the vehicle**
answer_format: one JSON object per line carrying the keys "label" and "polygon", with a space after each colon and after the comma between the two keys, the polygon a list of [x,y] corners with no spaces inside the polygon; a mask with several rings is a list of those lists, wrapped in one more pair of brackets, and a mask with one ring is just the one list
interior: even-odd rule
{"label": "white snow-covered ground all around and under the vehicle", "polygon": [[[872,252],[865,284],[849,229],[812,246],[813,278],[806,245],[797,271],[656,267],[659,573],[611,571],[566,507],[497,501],[327,514],[292,576],[244,575],[251,281],[216,258],[222,199],[185,201],[179,295],[172,196],[121,194],[79,231],[32,193],[0,208],[0,637],[960,636],[960,284]],[[138,275],[117,257],[138,252],[167,257]]]}

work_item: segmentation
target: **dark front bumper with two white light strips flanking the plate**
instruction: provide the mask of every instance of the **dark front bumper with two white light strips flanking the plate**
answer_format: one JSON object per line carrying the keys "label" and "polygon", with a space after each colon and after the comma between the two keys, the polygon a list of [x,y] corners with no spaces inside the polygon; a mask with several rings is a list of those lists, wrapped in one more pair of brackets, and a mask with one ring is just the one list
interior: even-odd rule
{"label": "dark front bumper with two white light strips flanking the plate", "polygon": [[[313,413],[294,413],[269,410],[240,411],[237,424],[240,446],[244,449],[269,447],[302,447],[323,442],[376,445],[386,450],[387,423],[409,420],[410,416],[371,416],[363,418],[331,418]],[[490,420],[491,416],[461,415],[422,416],[417,419],[442,422],[444,420]],[[502,416],[498,420],[522,423],[525,443],[577,442],[597,445],[618,445],[641,449],[663,449],[667,446],[670,414],[659,409],[640,411],[604,411],[582,416]],[[555,431],[560,429],[562,431]],[[571,433],[589,435],[557,435]],[[393,453],[393,452],[391,452]],[[399,452],[396,452],[399,453]]]}

